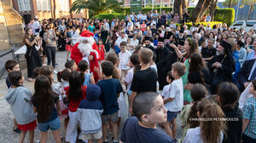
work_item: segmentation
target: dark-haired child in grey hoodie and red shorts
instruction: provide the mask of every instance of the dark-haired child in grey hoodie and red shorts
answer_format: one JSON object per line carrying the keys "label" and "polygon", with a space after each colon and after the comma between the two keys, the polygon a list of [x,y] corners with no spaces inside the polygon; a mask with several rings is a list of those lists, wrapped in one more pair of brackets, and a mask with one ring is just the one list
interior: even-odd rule
{"label": "dark-haired child in grey hoodie and red shorts", "polygon": [[22,86],[24,77],[20,71],[10,72],[9,82],[11,83],[11,87],[5,96],[5,100],[11,106],[17,126],[21,130],[19,142],[23,143],[26,132],[29,131],[29,142],[33,143],[34,129],[37,128],[37,121],[36,115],[30,105],[32,93]]}

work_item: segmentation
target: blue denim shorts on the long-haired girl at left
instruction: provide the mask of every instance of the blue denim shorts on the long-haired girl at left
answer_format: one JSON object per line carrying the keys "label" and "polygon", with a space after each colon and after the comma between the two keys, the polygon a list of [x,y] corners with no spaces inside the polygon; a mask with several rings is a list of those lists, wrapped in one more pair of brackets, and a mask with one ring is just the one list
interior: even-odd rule
{"label": "blue denim shorts on the long-haired girl at left", "polygon": [[50,130],[57,130],[61,128],[61,122],[59,117],[56,117],[54,120],[47,123],[38,123],[38,129],[42,132],[47,132]]}

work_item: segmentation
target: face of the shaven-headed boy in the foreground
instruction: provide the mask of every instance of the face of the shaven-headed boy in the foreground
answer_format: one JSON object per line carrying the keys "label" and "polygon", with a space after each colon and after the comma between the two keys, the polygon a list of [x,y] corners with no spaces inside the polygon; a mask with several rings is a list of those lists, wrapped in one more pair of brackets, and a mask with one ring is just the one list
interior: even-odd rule
{"label": "face of the shaven-headed boy in the foreground", "polygon": [[164,106],[164,100],[160,95],[154,99],[154,106],[150,109],[150,114],[147,115],[149,123],[165,123],[167,118],[167,110]]}

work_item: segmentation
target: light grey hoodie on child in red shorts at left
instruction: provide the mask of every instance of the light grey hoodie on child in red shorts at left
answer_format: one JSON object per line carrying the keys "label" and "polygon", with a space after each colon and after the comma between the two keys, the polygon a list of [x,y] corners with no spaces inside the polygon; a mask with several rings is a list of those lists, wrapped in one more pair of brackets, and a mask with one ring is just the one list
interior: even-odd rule
{"label": "light grey hoodie on child in red shorts at left", "polygon": [[22,86],[17,89],[10,88],[5,96],[18,124],[32,123],[36,120],[30,103],[31,97],[32,93]]}

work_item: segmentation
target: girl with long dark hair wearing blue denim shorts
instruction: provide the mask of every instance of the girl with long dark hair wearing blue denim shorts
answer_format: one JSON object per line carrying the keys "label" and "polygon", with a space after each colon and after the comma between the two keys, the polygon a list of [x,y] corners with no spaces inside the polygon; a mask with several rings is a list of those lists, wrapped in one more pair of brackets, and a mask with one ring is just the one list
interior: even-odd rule
{"label": "girl with long dark hair wearing blue denim shorts", "polygon": [[38,129],[41,132],[40,142],[47,142],[48,130],[51,129],[55,142],[61,143],[61,122],[58,117],[58,112],[60,112],[59,96],[52,91],[49,78],[44,75],[36,78],[32,105],[34,112],[37,113]]}

